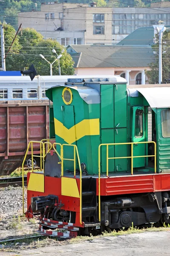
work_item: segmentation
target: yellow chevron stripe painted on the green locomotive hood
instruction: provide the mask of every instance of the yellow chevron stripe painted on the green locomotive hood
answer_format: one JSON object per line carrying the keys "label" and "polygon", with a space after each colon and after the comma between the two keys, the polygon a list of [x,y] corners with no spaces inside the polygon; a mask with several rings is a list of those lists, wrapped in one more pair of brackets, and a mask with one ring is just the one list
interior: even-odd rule
{"label": "yellow chevron stripe painted on the green locomotive hood", "polygon": [[86,135],[99,135],[99,118],[97,119],[84,119],[78,124],[67,129],[63,123],[54,119],[55,134],[61,137],[68,144],[74,143],[76,140],[81,139]]}

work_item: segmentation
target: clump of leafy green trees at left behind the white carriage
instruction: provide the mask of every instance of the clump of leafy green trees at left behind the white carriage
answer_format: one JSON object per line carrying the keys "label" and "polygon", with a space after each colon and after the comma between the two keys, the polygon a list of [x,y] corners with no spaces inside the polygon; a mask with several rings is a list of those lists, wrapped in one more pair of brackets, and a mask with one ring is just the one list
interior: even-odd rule
{"label": "clump of leafy green trees at left behind the white carriage", "polygon": [[[5,52],[8,51],[15,33],[15,29],[11,25],[4,24]],[[40,57],[40,54],[52,63],[57,58],[52,49],[55,49],[59,55],[63,46],[51,39],[44,40],[43,36],[35,29],[22,29],[6,57],[6,70],[24,70],[24,68],[27,70],[31,64],[34,64],[38,75],[48,76],[50,65]],[[71,55],[65,50],[60,58],[61,75],[73,75],[73,64]],[[52,70],[53,75],[59,74],[58,60],[52,65]]]}

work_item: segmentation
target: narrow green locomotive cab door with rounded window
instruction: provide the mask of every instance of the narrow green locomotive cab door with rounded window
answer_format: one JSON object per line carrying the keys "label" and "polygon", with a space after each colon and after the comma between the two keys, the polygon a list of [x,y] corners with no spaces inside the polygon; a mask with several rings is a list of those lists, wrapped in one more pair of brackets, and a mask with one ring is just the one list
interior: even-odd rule
{"label": "narrow green locomotive cab door with rounded window", "polygon": [[[133,107],[133,122],[132,122],[132,142],[133,144],[133,156],[146,155],[146,145],[138,144],[138,142],[145,141],[145,124],[144,124],[144,108]],[[133,168],[144,167],[145,157],[133,158]]]}

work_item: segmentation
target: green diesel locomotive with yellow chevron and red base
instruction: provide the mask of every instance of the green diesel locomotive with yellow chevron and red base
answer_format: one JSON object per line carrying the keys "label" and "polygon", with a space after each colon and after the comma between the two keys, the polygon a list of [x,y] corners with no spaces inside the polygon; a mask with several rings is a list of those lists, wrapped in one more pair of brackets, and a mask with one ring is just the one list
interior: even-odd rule
{"label": "green diesel locomotive with yellow chevron and red base", "polygon": [[42,172],[27,178],[26,216],[39,216],[40,233],[170,223],[169,91],[127,87],[120,76],[75,77],[46,91],[50,140],[40,142]]}

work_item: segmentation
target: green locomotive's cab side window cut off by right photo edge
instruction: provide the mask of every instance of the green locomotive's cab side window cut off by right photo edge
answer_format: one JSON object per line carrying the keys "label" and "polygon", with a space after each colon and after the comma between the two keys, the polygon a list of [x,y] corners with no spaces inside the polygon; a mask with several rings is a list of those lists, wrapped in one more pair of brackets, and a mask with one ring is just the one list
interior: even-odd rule
{"label": "green locomotive's cab side window cut off by right photo edge", "polygon": [[162,137],[170,137],[170,110],[161,111]]}

